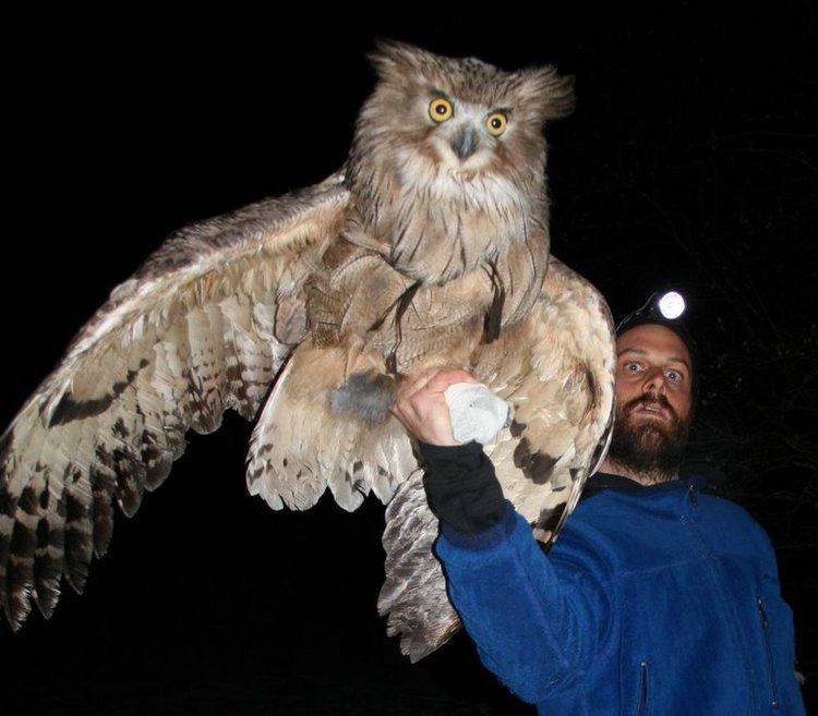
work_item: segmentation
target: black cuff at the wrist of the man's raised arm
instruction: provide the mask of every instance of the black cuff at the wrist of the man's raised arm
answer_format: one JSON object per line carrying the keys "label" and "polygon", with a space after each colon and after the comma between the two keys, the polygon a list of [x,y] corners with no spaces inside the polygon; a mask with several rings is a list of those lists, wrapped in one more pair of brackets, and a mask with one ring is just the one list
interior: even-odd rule
{"label": "black cuff at the wrist of the man's raised arm", "polygon": [[464,534],[477,534],[501,521],[503,489],[482,445],[473,440],[452,447],[418,445],[426,498],[438,520]]}

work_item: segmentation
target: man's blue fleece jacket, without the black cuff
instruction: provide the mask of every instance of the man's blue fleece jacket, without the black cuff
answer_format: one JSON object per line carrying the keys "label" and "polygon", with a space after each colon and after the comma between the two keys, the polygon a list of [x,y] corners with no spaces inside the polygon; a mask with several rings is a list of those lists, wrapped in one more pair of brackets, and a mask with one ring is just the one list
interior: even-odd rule
{"label": "man's blue fleece jacket, without the black cuff", "polygon": [[775,556],[698,481],[598,476],[546,557],[510,503],[435,553],[480,658],[549,716],[805,714]]}

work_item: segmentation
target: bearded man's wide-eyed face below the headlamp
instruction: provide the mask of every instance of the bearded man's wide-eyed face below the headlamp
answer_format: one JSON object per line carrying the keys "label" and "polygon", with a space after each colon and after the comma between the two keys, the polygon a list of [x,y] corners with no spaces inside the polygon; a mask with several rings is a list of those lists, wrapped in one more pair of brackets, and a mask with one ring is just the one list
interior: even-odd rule
{"label": "bearded man's wide-eyed face below the headlamp", "polygon": [[616,340],[616,423],[610,457],[670,480],[678,472],[690,423],[690,354],[675,332],[636,326]]}

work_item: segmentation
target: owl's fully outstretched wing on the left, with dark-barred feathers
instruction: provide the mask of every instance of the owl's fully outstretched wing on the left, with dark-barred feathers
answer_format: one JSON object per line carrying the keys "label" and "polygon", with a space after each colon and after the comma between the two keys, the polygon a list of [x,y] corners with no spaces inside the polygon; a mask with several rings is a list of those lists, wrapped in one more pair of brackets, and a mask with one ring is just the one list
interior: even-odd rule
{"label": "owl's fully outstretched wing on the left, with dark-barred feathers", "polygon": [[305,330],[303,282],[344,222],[342,173],[171,235],[80,330],[0,437],[0,603],[13,629],[81,592],[112,500],[132,515],[192,427],[252,420]]}

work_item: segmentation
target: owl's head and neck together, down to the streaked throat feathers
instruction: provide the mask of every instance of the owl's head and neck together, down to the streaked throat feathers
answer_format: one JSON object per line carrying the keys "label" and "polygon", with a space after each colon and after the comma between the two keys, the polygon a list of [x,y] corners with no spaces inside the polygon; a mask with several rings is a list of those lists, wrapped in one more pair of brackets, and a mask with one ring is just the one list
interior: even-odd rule
{"label": "owl's head and neck together, down to the streaked throat feathers", "polygon": [[347,163],[357,208],[347,238],[374,240],[395,268],[425,282],[453,280],[519,243],[545,256],[542,129],[570,111],[573,78],[395,41],[370,59],[378,82]]}

